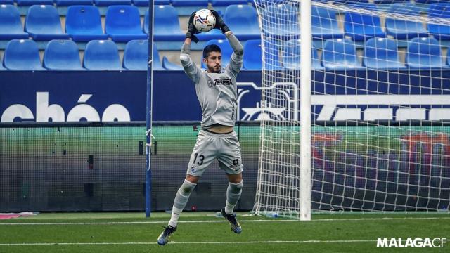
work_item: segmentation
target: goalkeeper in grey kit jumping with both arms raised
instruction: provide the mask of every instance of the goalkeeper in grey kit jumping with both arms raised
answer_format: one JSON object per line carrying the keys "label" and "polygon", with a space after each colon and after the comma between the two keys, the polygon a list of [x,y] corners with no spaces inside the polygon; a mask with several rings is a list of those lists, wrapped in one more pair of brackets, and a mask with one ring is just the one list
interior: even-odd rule
{"label": "goalkeeper in grey kit jumping with both arms raised", "polygon": [[168,226],[158,237],[158,244],[165,245],[170,235],[176,231],[179,216],[188,202],[189,195],[195,188],[200,176],[211,162],[217,158],[219,167],[226,172],[229,186],[226,190],[226,205],[221,214],[230,223],[234,233],[242,228],[233,215],[242,193],[242,171],[240,144],[233,126],[238,110],[236,77],[243,63],[243,46],[225,25],[216,11],[214,28],[221,30],[233,48],[229,65],[222,68],[221,50],[217,45],[209,45],[203,49],[203,63],[207,69],[201,70],[191,60],[191,41],[197,42],[195,34],[199,33],[193,25],[195,13],[188,22],[188,32],[181,48],[180,60],[184,71],[194,82],[195,92],[202,108],[201,130],[189,160],[186,179],[176,193],[172,217]]}

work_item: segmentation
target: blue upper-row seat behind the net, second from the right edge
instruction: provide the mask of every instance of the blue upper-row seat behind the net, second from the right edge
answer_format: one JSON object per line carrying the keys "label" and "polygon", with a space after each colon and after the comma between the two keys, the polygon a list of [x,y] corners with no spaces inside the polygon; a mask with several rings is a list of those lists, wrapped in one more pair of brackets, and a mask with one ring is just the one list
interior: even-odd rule
{"label": "blue upper-row seat behind the net, second from the right edge", "polygon": [[[413,8],[411,4],[391,4],[387,11],[389,13],[398,13],[399,15],[420,15],[418,8]],[[412,39],[414,37],[428,37],[421,22],[409,20],[399,20],[395,18],[386,18],[386,33],[392,35],[394,39]]]}

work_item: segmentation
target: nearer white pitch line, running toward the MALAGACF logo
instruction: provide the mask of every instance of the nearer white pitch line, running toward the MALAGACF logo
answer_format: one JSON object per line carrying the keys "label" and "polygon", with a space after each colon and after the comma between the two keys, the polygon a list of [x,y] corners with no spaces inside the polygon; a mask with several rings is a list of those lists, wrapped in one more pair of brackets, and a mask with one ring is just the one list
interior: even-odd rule
{"label": "nearer white pitch line, running toward the MALAGACF logo", "polygon": [[[257,244],[257,243],[355,243],[376,242],[376,240],[274,240],[274,241],[248,241],[248,242],[169,242],[169,245],[192,244]],[[29,243],[0,243],[0,246],[58,246],[58,245],[157,245],[158,242],[29,242]]]}

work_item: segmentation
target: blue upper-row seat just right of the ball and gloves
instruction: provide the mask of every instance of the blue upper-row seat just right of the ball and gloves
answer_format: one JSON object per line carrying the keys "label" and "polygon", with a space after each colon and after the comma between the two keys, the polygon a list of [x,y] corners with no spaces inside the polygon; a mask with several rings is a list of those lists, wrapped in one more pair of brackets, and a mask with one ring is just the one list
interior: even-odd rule
{"label": "blue upper-row seat just right of the ball and gloves", "polygon": [[238,39],[261,38],[258,13],[253,6],[238,4],[226,7],[224,21]]}

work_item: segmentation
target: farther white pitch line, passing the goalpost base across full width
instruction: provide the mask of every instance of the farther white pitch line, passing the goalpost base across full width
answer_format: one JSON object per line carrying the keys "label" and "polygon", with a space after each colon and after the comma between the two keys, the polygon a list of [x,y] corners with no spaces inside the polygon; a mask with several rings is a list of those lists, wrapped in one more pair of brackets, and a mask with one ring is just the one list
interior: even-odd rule
{"label": "farther white pitch line, passing the goalpost base across full width", "polygon": [[[392,221],[392,220],[439,220],[450,219],[450,217],[386,217],[386,218],[357,218],[357,219],[313,219],[306,222],[321,221]],[[209,221],[178,221],[178,223],[222,223],[225,220]],[[266,219],[266,220],[240,220],[245,222],[298,222],[295,219]],[[0,226],[29,226],[29,225],[133,225],[133,224],[165,224],[167,221],[115,221],[115,222],[52,222],[52,223],[0,223]]]}

